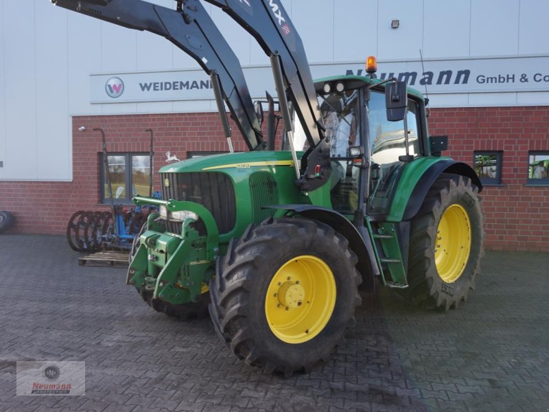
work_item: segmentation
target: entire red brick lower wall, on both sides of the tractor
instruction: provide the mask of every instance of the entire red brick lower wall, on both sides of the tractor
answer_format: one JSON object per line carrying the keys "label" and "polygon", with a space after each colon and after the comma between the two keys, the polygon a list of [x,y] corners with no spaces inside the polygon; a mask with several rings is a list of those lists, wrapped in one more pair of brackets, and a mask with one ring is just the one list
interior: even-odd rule
{"label": "entire red brick lower wall, on both sides of the tractor", "polygon": [[[429,124],[431,135],[449,135],[447,154],[469,164],[474,150],[504,151],[503,186],[482,193],[487,249],[549,251],[549,187],[525,186],[528,150],[549,150],[549,107],[440,108]],[[226,150],[217,113],[74,117],[73,182],[0,181],[0,210],[16,216],[12,231],[61,234],[74,211],[109,209],[100,204],[101,139],[94,127],[105,130],[110,152],[148,152],[144,130],[152,128],[155,187],[168,150],[180,159]],[[233,130],[235,150],[246,150]]]}

